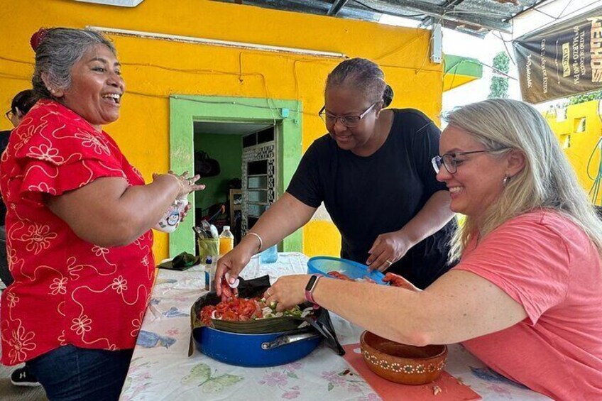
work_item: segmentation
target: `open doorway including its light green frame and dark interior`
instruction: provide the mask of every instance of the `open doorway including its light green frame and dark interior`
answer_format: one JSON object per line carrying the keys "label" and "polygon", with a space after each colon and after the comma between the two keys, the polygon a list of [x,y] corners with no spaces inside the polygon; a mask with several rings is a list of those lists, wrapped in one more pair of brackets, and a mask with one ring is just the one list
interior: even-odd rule
{"label": "open doorway including its light green frame and dark interior", "polygon": [[[192,172],[195,151],[204,150],[219,162],[220,170],[219,175],[202,178],[207,189],[190,197],[196,210],[170,234],[170,257],[182,251],[195,253],[196,212],[211,216],[219,212],[219,204],[232,209],[232,203],[234,213],[219,216],[220,223],[236,221],[238,215],[238,231],[244,235],[265,207],[278,199],[301,158],[300,110],[300,102],[290,100],[170,97],[170,168]],[[238,205],[236,179],[241,187]],[[285,238],[280,250],[301,251],[301,230]]]}

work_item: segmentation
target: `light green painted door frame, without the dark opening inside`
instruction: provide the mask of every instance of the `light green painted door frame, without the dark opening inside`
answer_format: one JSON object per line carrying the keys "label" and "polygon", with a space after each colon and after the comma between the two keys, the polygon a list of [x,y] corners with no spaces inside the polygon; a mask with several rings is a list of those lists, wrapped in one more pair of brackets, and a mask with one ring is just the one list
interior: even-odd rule
{"label": "light green painted door frame, without the dark opening inside", "polygon": [[[248,97],[212,97],[192,95],[170,96],[170,169],[194,171],[195,121],[231,123],[273,123],[278,129],[278,196],[283,191],[301,160],[301,102],[282,99]],[[201,179],[202,181],[202,179]],[[201,192],[202,194],[202,192]],[[189,199],[195,204],[195,194]],[[195,254],[192,225],[195,209],[188,219],[169,235],[169,255],[173,258],[186,251]],[[302,230],[286,237],[281,251],[302,251]]]}

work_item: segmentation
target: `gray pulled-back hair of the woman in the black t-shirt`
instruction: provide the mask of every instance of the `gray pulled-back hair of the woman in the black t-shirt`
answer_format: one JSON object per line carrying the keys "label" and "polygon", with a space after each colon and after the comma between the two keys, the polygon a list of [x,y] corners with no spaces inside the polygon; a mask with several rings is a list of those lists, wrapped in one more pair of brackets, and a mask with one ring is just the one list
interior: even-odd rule
{"label": "gray pulled-back hair of the woman in the black t-shirt", "polygon": [[393,89],[385,83],[383,70],[365,58],[350,58],[334,67],[326,79],[326,90],[343,85],[359,89],[373,103],[382,100],[383,107],[393,101]]}

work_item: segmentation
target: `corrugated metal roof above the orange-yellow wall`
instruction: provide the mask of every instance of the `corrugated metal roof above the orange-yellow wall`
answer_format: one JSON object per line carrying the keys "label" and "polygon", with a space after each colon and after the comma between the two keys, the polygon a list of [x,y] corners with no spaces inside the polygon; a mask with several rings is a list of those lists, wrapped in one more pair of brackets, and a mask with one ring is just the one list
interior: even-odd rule
{"label": "corrugated metal roof above the orange-yellow wall", "polygon": [[473,35],[512,31],[511,20],[547,0],[214,0],[269,9],[297,11],[363,21],[378,21],[383,14],[433,21]]}

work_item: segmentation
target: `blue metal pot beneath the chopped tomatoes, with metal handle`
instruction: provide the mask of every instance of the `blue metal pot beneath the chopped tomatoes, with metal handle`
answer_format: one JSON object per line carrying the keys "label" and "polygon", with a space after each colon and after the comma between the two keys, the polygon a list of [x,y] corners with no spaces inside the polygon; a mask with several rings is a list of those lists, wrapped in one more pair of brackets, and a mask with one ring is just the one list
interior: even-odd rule
{"label": "blue metal pot beneath the chopped tomatoes, with metal handle", "polygon": [[322,341],[314,329],[239,334],[202,326],[192,330],[197,349],[223,363],[253,368],[278,366],[307,356]]}

